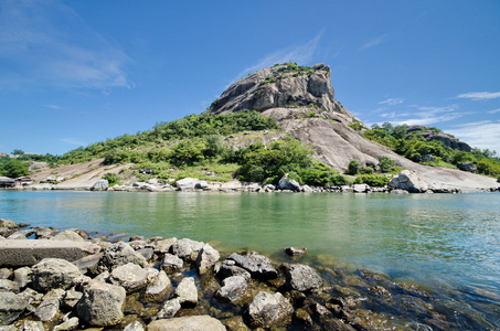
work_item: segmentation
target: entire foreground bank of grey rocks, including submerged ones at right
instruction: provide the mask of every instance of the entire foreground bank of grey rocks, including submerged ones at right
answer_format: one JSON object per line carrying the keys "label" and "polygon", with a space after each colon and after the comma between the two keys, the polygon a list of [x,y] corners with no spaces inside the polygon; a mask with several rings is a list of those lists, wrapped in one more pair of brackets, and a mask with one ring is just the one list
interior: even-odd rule
{"label": "entire foreground bank of grey rocks, including submerged ones at right", "polygon": [[114,242],[0,220],[0,330],[458,328],[456,307],[417,286],[348,271],[331,256],[312,268],[306,248],[277,263],[189,238]]}

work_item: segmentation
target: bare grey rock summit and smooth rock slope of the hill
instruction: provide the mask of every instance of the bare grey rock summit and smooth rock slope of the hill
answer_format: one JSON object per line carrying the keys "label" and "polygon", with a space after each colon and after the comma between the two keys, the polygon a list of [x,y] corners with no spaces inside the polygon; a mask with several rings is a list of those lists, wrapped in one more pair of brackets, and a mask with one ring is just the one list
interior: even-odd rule
{"label": "bare grey rock summit and smooth rock slope of the hill", "polygon": [[[396,166],[415,171],[421,180],[436,186],[462,190],[498,186],[492,178],[415,163],[363,138],[349,125],[364,125],[336,100],[331,71],[325,64],[310,67],[283,64],[251,74],[231,85],[208,113],[243,109],[258,110],[276,119],[288,135],[311,147],[319,161],[340,172],[347,170],[351,160],[370,166],[386,156],[395,160]],[[442,136],[427,135],[429,139],[444,139]],[[449,143],[467,150],[466,143],[451,138],[446,137]]]}

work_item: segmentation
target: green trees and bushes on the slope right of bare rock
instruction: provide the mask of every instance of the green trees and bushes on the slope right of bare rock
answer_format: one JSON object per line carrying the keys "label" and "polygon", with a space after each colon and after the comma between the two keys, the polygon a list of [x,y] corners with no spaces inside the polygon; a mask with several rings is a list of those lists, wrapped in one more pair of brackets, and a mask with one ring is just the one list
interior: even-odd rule
{"label": "green trees and bushes on the slope right of bare rock", "polygon": [[[445,146],[442,141],[427,141],[421,131],[408,132],[406,125],[393,126],[384,122],[382,126],[373,125],[363,131],[366,139],[386,146],[396,153],[412,160],[433,167],[457,168],[461,162],[471,162],[477,167],[477,172],[497,177],[500,174],[500,159],[494,151],[472,149],[471,152],[460,151]],[[440,132],[437,128],[427,128]],[[382,164],[385,169],[385,163]],[[381,167],[381,164],[379,164]],[[381,167],[382,168],[382,167]],[[383,172],[391,172],[385,171]]]}

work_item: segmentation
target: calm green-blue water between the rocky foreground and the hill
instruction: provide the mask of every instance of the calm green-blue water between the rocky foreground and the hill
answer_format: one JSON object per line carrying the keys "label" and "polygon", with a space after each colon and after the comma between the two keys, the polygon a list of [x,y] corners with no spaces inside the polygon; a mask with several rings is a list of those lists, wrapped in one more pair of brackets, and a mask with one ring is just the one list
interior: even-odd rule
{"label": "calm green-blue water between the rocky foreground and the hill", "polygon": [[[0,191],[0,217],[32,226],[189,237],[311,257],[415,282],[500,328],[500,195]],[[448,302],[449,301],[449,302]],[[455,305],[455,306],[454,306]]]}

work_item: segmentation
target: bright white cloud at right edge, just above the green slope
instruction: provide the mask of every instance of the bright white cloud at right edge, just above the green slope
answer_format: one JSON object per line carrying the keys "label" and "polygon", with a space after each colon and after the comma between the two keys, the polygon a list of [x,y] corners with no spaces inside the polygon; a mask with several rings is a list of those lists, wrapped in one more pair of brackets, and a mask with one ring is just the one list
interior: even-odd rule
{"label": "bright white cloud at right edge, just above the green slope", "polygon": [[466,141],[472,147],[500,151],[500,122],[499,121],[477,121],[468,122],[447,130],[458,139]]}

